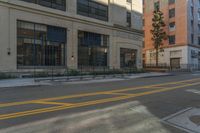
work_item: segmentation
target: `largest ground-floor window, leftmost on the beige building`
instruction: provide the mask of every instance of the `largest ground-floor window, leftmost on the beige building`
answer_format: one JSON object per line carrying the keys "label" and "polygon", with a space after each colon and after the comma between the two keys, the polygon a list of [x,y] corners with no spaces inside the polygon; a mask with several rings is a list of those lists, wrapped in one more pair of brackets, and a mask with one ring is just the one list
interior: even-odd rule
{"label": "largest ground-floor window, leftmost on the beige building", "polygon": [[66,29],[17,21],[17,65],[64,66]]}

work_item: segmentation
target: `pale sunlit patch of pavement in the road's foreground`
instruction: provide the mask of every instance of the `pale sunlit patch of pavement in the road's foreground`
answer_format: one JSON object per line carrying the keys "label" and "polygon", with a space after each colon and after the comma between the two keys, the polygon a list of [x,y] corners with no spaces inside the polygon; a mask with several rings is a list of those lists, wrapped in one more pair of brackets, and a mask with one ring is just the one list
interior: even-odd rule
{"label": "pale sunlit patch of pavement in the road's foreground", "polygon": [[[138,101],[0,130],[1,133],[174,133]],[[183,131],[176,133],[184,133]]]}

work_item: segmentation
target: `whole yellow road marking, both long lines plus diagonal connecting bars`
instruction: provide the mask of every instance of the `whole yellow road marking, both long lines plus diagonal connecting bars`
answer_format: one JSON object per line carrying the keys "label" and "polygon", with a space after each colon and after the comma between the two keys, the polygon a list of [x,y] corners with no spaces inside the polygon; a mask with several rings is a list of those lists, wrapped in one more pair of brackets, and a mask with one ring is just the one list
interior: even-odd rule
{"label": "whole yellow road marking, both long lines plus diagonal connecting bars", "polygon": [[[192,79],[192,80],[185,80],[185,81],[179,81],[179,82],[170,82],[170,83],[165,83],[165,84],[152,85],[151,87],[150,86],[144,86],[144,87],[120,89],[120,90],[114,90],[114,91],[104,91],[104,92],[98,92],[98,93],[86,93],[86,94],[79,94],[79,95],[72,95],[72,96],[47,98],[47,99],[41,99],[41,100],[33,100],[32,102],[27,101],[28,104],[31,104],[31,103],[55,104],[55,105],[57,104],[57,105],[60,105],[60,106],[43,108],[43,109],[35,109],[35,110],[29,110],[29,111],[23,111],[23,112],[17,112],[17,113],[10,113],[10,114],[3,114],[3,115],[0,115],[0,120],[6,120],[6,119],[17,118],[17,117],[22,117],[22,116],[30,116],[30,115],[35,115],[35,114],[47,113],[47,112],[54,112],[54,111],[65,110],[65,109],[70,109],[70,108],[77,108],[77,107],[83,107],[83,106],[91,106],[91,105],[115,102],[115,101],[119,101],[119,100],[125,100],[125,99],[135,98],[135,97],[139,97],[139,96],[145,96],[145,95],[150,95],[150,94],[154,94],[154,93],[175,90],[175,89],[179,89],[179,88],[199,85],[200,82],[198,82],[198,80],[199,79]],[[194,82],[194,81],[196,81],[196,82]],[[190,83],[190,82],[192,82],[192,83]],[[170,87],[170,88],[164,87],[164,88],[161,88],[161,89],[156,89],[156,90],[141,92],[141,93],[135,93],[135,94],[120,93],[120,92],[135,90],[135,89],[139,89],[139,88],[152,88],[154,86],[158,87],[158,86],[161,86],[161,85],[164,86],[164,85],[169,85],[169,84],[175,84],[175,85],[183,84],[183,85]],[[67,98],[77,98],[77,97],[91,96],[91,95],[95,95],[95,94],[99,95],[99,94],[106,94],[106,93],[109,93],[109,94],[118,93],[118,94],[121,94],[122,96],[100,99],[100,100],[94,100],[94,101],[81,102],[81,103],[74,103],[74,104],[46,102],[46,101],[50,101],[50,100],[52,101],[52,100],[60,100],[60,99],[67,99]],[[15,104],[13,104],[13,103],[8,103],[8,104],[9,104],[9,106],[12,106],[12,105],[22,105],[24,103],[25,102],[16,102]],[[3,105],[4,106],[0,106],[0,107],[5,107],[6,104],[3,104]]]}

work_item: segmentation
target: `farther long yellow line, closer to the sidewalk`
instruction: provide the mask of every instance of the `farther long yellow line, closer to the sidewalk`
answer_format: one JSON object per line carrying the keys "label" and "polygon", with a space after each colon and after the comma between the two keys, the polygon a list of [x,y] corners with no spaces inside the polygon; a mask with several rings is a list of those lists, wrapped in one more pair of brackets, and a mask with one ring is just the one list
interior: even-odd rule
{"label": "farther long yellow line, closer to the sidewalk", "polygon": [[138,90],[138,89],[151,89],[153,87],[162,87],[164,85],[178,85],[178,84],[182,84],[182,83],[187,84],[187,82],[198,81],[198,80],[200,80],[200,78],[191,79],[191,80],[177,81],[177,82],[168,82],[168,83],[162,83],[162,84],[155,84],[155,85],[149,85],[149,86],[139,86],[139,87],[133,87],[133,88],[111,90],[111,91],[91,92],[91,93],[74,94],[74,95],[67,95],[67,96],[60,96],[60,97],[44,98],[44,99],[38,99],[38,100],[3,103],[3,104],[0,104],[0,107],[9,107],[9,106],[24,105],[24,104],[32,104],[32,103],[35,103],[35,102],[38,102],[38,101],[55,101],[55,100],[62,100],[62,99],[79,98],[79,97],[86,97],[86,96],[95,96],[95,95],[101,95],[101,94],[105,94],[105,93],[119,93],[119,92]]}

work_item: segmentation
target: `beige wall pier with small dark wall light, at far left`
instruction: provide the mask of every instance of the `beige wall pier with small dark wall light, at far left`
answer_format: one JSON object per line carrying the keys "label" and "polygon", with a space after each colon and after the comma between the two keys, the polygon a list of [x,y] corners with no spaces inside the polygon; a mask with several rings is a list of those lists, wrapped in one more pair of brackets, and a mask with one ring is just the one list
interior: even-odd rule
{"label": "beige wall pier with small dark wall light, at far left", "polygon": [[15,23],[17,22],[12,17],[10,9],[0,6],[0,71],[15,71],[17,68]]}

